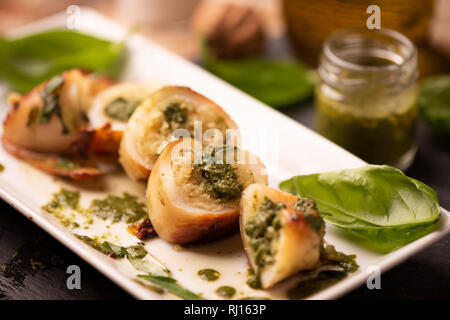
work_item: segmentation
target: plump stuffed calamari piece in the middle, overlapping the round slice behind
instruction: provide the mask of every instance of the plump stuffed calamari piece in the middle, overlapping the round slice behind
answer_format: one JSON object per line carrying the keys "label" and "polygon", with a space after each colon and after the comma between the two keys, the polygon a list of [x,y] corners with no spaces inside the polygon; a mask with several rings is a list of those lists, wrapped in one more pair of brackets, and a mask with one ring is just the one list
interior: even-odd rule
{"label": "plump stuffed calamari piece in the middle, overlapping the round slice behind", "polygon": [[[194,150],[193,139],[172,142],[148,181],[149,218],[168,242],[206,241],[237,229],[242,190],[267,184],[264,164],[249,151],[206,147],[199,155]],[[220,154],[231,161],[216,161]]]}

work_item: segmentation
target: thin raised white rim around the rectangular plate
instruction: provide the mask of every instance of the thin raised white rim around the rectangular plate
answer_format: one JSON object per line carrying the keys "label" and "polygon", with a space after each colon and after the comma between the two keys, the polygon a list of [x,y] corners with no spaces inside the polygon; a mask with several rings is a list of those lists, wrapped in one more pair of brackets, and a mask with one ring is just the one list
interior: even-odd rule
{"label": "thin raised white rim around the rectangular plate", "polygon": [[[109,18],[103,16],[102,14],[98,13],[97,11],[89,8],[89,7],[81,7],[83,11],[84,18],[96,18],[96,19],[103,19],[108,20],[109,23],[114,24],[118,26],[119,28],[124,29],[122,26],[119,26],[116,22],[111,21]],[[26,34],[27,32],[33,30],[34,32],[37,32],[38,30],[45,30],[48,29],[51,26],[61,26],[62,18],[66,17],[66,14],[63,13],[57,13],[55,15],[49,16],[47,18],[44,18],[42,20],[33,22],[31,24],[25,25],[23,27],[17,28],[15,30],[12,30],[9,32],[9,35],[20,35],[20,34]],[[196,68],[199,72],[204,73],[208,77],[214,78],[216,81],[221,82],[222,84],[232,88],[234,91],[236,91],[238,94],[245,95],[247,98],[250,98],[257,102],[262,107],[270,110],[271,112],[274,112],[277,116],[281,116],[284,118],[284,120],[287,120],[291,123],[295,123],[295,125],[301,127],[304,130],[310,131],[310,133],[314,134],[317,138],[321,140],[327,141],[330,145],[333,145],[335,148],[340,149],[341,152],[345,152],[347,154],[350,154],[348,151],[342,149],[339,146],[336,146],[332,142],[328,141],[327,139],[323,138],[322,136],[318,135],[314,131],[304,127],[300,123],[296,122],[295,120],[287,117],[286,115],[264,105],[263,103],[257,101],[256,99],[248,96],[247,94],[241,92],[239,89],[234,88],[230,86],[229,84],[225,83],[223,80],[215,77],[214,75],[208,73],[204,69],[200,68],[199,66],[185,60],[184,58],[168,51],[167,49],[162,48],[158,44],[155,44],[154,42],[136,35],[136,37],[140,38],[140,40],[144,43],[151,43],[152,46],[159,47],[161,51],[165,51],[166,54],[171,55],[172,57],[176,58],[177,60],[183,60],[184,63],[191,64],[192,67]],[[352,157],[356,158],[354,155],[351,155]],[[358,159],[359,160],[359,159]],[[361,163],[363,163],[362,160],[360,160]],[[151,292],[150,290],[146,289],[145,287],[137,284],[135,281],[130,279],[129,277],[123,275],[122,273],[118,272],[115,268],[108,265],[108,263],[105,263],[104,256],[98,252],[96,252],[94,249],[88,247],[85,244],[82,244],[80,241],[78,241],[73,235],[67,232],[62,232],[60,226],[58,226],[56,223],[52,223],[49,220],[44,219],[44,217],[40,216],[39,213],[35,212],[30,206],[27,205],[27,203],[20,200],[20,192],[8,190],[9,187],[4,186],[4,184],[0,181],[0,197],[5,200],[9,205],[11,205],[13,208],[15,208],[17,211],[19,211],[21,214],[23,214],[25,217],[30,219],[33,223],[38,225],[40,228],[45,230],[47,233],[49,233],[52,237],[54,237],[56,240],[61,242],[64,246],[66,246],[69,250],[76,253],[81,259],[85,260],[87,263],[89,263],[91,266],[93,266],[95,269],[97,269],[99,272],[101,272],[104,276],[106,276],[108,279],[113,281],[116,285],[124,289],[126,292],[128,292],[130,295],[137,299],[148,299],[149,297],[151,299],[158,300],[161,297],[158,294],[155,294]],[[446,234],[450,233],[450,213],[441,207],[441,215],[445,216],[446,220],[443,225],[441,226],[441,229],[436,230],[400,249],[397,249],[389,254],[386,254],[385,257],[381,260],[380,263],[377,264],[377,266],[380,268],[382,272],[386,272],[387,270],[391,269],[392,267],[398,265],[399,263],[403,262],[407,258],[411,257],[413,254],[425,249],[427,246],[431,245],[432,243],[438,241],[442,237],[444,237]],[[442,217],[441,217],[442,219]],[[336,299],[340,296],[348,293],[352,289],[355,289],[356,287],[362,285],[369,274],[366,274],[364,272],[365,270],[359,270],[357,274],[352,275],[352,277],[348,279],[344,279],[340,281],[339,283],[331,286],[330,288],[327,288],[325,290],[320,291],[319,293],[311,296],[309,299]]]}

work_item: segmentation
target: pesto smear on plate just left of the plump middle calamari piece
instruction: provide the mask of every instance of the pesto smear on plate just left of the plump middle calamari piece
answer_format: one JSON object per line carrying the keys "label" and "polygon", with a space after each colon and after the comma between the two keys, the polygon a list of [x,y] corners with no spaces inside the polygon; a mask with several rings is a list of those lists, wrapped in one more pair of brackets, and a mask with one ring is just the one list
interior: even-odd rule
{"label": "pesto smear on plate just left of the plump middle calamari piece", "polygon": [[127,192],[124,192],[122,197],[108,195],[104,199],[94,199],[87,211],[103,220],[113,222],[131,223],[147,216],[145,204]]}

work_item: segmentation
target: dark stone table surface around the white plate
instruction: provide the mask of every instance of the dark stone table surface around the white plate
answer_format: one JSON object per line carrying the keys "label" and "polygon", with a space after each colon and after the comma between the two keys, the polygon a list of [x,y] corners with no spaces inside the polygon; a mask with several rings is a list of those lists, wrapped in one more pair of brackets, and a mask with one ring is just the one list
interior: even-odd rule
{"label": "dark stone table surface around the white plate", "polygon": [[[283,110],[312,127],[311,102]],[[419,151],[407,174],[434,188],[450,208],[450,144],[419,126]],[[68,290],[66,268],[78,265],[81,290]],[[0,200],[0,299],[131,299],[39,227]],[[450,298],[450,236],[382,274],[381,289],[360,287],[343,299]]]}

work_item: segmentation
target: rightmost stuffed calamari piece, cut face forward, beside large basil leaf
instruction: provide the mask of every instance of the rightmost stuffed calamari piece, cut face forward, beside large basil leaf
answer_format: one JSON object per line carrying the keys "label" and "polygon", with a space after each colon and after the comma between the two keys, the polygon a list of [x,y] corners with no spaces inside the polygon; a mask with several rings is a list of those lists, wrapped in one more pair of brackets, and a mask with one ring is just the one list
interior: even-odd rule
{"label": "rightmost stuffed calamari piece, cut face forward, beside large basil leaf", "polygon": [[311,199],[250,185],[242,193],[240,228],[264,289],[319,262],[324,222]]}

